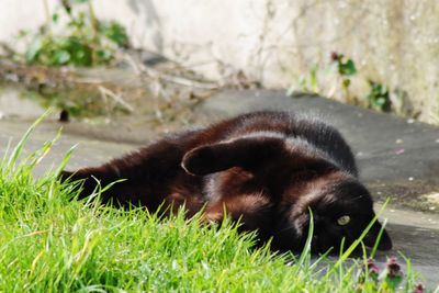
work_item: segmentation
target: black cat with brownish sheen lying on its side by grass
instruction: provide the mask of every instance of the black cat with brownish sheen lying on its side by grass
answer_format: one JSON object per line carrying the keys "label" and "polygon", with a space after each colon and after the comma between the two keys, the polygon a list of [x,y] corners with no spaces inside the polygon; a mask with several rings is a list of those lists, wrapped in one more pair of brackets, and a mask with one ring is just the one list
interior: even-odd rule
{"label": "black cat with brownish sheen lying on its side by grass", "polygon": [[[98,168],[65,171],[83,180],[79,198],[97,180],[114,184],[104,203],[168,211],[184,205],[188,216],[221,222],[227,213],[244,230],[257,230],[272,248],[301,250],[314,218],[313,251],[353,243],[375,216],[372,199],[358,180],[353,155],[341,135],[323,122],[294,113],[256,112],[210,127],[170,136]],[[364,238],[373,246],[381,225]],[[384,230],[379,249],[392,248]]]}

